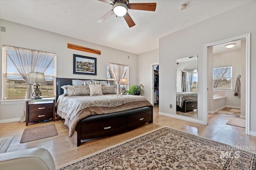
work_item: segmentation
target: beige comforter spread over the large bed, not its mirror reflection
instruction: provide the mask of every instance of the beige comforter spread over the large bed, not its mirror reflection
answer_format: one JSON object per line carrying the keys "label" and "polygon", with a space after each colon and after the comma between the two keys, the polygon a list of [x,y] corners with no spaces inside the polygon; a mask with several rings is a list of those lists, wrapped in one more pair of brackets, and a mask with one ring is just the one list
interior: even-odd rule
{"label": "beige comforter spread over the large bed, not its mirror reflection", "polygon": [[57,113],[69,127],[69,136],[74,134],[76,124],[90,115],[113,113],[150,106],[144,96],[106,94],[102,96],[64,96],[60,95],[56,103]]}

